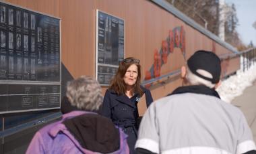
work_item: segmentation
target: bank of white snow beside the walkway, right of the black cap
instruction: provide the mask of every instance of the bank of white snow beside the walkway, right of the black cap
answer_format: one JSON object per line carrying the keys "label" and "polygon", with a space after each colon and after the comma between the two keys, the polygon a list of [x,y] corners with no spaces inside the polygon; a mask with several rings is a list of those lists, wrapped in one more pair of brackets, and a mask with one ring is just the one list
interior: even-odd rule
{"label": "bank of white snow beside the walkway, right of the black cap", "polygon": [[[241,67],[243,68],[243,67]],[[238,70],[234,76],[230,76],[222,81],[222,84],[216,89],[220,98],[225,102],[231,102],[236,96],[243,94],[243,90],[253,84],[256,80],[256,63],[243,72]]]}

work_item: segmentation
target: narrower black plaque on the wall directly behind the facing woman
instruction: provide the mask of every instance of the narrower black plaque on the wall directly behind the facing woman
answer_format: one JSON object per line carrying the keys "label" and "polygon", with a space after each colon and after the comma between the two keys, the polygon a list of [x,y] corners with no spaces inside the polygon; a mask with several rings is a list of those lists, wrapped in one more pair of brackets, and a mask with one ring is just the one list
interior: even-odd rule
{"label": "narrower black plaque on the wall directly behind the facing woman", "polygon": [[124,58],[124,21],[97,10],[96,77],[110,84]]}

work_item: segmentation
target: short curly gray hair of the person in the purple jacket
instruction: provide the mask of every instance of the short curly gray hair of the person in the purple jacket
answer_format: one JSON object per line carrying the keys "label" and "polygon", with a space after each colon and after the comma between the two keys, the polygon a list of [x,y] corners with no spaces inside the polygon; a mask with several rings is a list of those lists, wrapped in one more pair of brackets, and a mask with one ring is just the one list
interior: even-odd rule
{"label": "short curly gray hair of the person in the purple jacket", "polygon": [[82,110],[98,110],[103,100],[100,84],[90,76],[68,82],[66,95],[72,106]]}

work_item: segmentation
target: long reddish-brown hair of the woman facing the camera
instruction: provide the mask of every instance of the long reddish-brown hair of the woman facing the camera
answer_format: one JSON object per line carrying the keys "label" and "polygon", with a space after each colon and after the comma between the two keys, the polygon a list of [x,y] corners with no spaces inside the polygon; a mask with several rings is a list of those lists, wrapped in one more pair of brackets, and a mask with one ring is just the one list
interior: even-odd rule
{"label": "long reddish-brown hair of the woman facing the camera", "polygon": [[[125,60],[127,60],[127,59],[131,59],[131,62],[125,62]],[[111,80],[109,89],[114,90],[115,92],[117,92],[118,95],[125,94],[126,90],[127,90],[127,86],[125,84],[125,81],[123,80],[123,77],[125,76],[127,69],[132,64],[135,64],[137,66],[138,76],[137,76],[137,80],[133,86],[133,89],[131,90],[131,95],[133,95],[134,93],[138,93],[139,96],[142,96],[143,90],[140,87],[141,66],[138,63],[133,62],[133,60],[135,60],[135,58],[133,58],[133,57],[126,58],[125,60],[123,60],[123,62],[121,62],[119,64],[117,74],[115,74],[113,80]]]}

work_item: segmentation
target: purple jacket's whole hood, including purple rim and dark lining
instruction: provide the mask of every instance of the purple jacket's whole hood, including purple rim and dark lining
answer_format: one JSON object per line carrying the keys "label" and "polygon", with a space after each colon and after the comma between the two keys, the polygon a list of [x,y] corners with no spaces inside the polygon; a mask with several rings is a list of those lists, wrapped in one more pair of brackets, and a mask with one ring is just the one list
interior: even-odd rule
{"label": "purple jacket's whole hood, including purple rim and dark lining", "polygon": [[82,153],[129,153],[127,135],[96,112],[68,112],[49,128],[46,131],[51,139],[65,135]]}

